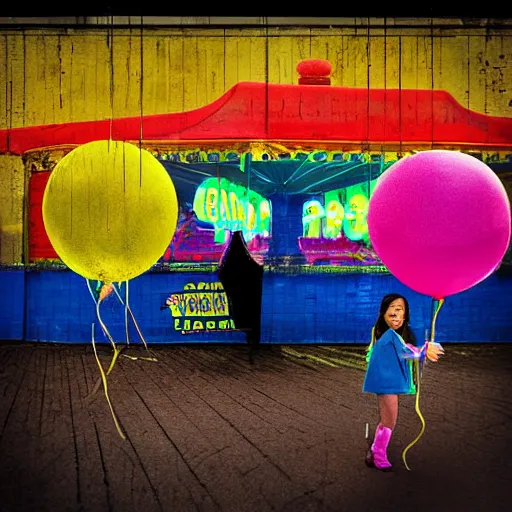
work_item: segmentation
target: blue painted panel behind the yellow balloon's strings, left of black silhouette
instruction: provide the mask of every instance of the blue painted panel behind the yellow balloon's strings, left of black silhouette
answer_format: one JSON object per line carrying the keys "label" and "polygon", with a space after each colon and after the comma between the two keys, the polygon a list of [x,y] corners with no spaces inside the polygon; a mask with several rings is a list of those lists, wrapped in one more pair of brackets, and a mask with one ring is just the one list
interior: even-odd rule
{"label": "blue painted panel behind the yellow balloon's strings, left of black silhouette", "polygon": [[[245,342],[240,332],[181,334],[174,329],[169,308],[161,307],[171,293],[182,292],[187,283],[200,281],[217,282],[218,278],[197,272],[147,273],[130,282],[130,306],[148,343]],[[123,342],[124,308],[114,295],[102,302],[100,314],[114,340]],[[27,273],[27,340],[90,342],[93,323],[96,341],[106,342],[85,279],[66,271]],[[129,326],[132,342],[140,342],[131,320]]]}

